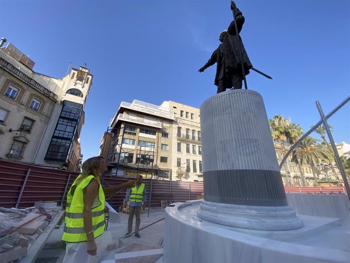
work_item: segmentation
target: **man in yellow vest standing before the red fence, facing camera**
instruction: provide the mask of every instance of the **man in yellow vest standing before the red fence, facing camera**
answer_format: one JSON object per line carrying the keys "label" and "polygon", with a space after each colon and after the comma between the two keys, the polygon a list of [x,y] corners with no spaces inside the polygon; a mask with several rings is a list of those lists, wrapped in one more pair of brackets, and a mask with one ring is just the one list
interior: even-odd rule
{"label": "man in yellow vest standing before the red fence, facing camera", "polygon": [[136,186],[129,188],[125,196],[125,202],[127,203],[128,201],[130,201],[128,233],[126,233],[126,235],[129,235],[132,232],[132,220],[135,215],[136,216],[135,237],[141,238],[140,234],[138,234],[137,231],[141,223],[141,219],[140,219],[141,207],[143,209],[146,208],[146,199],[147,199],[146,187],[145,187],[145,184],[142,183],[142,175],[138,175],[136,179]]}

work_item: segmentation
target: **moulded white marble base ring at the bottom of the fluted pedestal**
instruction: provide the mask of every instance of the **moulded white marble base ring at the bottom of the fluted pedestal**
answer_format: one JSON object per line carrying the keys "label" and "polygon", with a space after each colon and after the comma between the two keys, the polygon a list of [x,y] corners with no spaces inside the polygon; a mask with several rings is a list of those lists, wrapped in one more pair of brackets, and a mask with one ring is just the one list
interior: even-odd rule
{"label": "moulded white marble base ring at the bottom of the fluted pedestal", "polygon": [[260,230],[289,230],[303,225],[290,206],[243,206],[203,201],[197,215],[217,224]]}

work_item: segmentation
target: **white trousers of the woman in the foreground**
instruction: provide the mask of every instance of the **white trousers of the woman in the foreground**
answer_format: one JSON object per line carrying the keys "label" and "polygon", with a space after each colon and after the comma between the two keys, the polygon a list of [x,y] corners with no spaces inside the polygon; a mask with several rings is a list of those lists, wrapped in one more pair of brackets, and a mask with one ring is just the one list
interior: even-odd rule
{"label": "white trousers of the woman in the foreground", "polygon": [[91,256],[87,253],[87,242],[67,243],[63,263],[90,262]]}

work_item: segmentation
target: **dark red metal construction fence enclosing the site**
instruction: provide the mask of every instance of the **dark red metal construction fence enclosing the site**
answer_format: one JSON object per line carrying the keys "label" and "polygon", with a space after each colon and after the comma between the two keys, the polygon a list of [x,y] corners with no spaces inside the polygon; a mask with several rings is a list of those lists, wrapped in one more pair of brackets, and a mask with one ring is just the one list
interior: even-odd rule
{"label": "dark red metal construction fence enclosing the site", "polygon": [[[38,201],[57,202],[65,206],[66,193],[79,174],[24,163],[0,160],[0,207],[31,207]],[[127,179],[104,176],[105,185],[124,183]],[[148,201],[151,208],[163,204],[196,200],[203,192],[202,182],[181,182],[167,180],[144,179]],[[152,191],[151,191],[152,187]],[[300,193],[345,193],[344,187],[285,187],[286,192]],[[112,207],[119,208],[123,204],[126,190],[116,193],[112,198],[106,196]],[[149,199],[150,198],[150,199]],[[166,202],[164,202],[166,201]]]}

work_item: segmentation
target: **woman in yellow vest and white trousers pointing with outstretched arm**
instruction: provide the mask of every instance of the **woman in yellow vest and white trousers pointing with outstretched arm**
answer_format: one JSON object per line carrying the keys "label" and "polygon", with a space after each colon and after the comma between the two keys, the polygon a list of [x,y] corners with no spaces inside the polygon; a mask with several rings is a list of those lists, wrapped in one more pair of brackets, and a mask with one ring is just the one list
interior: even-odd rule
{"label": "woman in yellow vest and white trousers pointing with outstretched arm", "polygon": [[67,194],[65,226],[62,240],[66,242],[63,263],[89,262],[96,255],[95,238],[101,236],[104,221],[104,195],[133,187],[134,181],[102,189],[100,176],[107,171],[103,157],[96,156],[83,163],[83,172]]}

